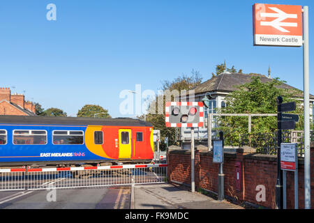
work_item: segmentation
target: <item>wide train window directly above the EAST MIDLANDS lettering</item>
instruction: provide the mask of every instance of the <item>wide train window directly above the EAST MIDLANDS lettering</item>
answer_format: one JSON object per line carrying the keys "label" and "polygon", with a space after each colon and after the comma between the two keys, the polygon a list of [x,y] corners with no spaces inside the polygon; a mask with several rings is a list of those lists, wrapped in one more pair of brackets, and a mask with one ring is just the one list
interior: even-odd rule
{"label": "wide train window directly above the EAST MIDLANDS lettering", "polygon": [[53,131],[52,144],[54,145],[82,145],[84,144],[83,131]]}

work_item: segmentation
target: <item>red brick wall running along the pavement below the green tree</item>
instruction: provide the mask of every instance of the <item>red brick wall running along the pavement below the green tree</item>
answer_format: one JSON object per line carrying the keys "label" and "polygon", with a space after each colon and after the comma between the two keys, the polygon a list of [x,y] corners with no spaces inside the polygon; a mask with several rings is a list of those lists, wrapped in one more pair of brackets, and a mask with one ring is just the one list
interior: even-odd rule
{"label": "red brick wall running along the pavement below the green tree", "polygon": [[[238,149],[234,153],[224,153],[223,173],[225,174],[225,197],[238,203],[244,201],[275,208],[275,185],[277,177],[277,156],[246,153]],[[190,151],[168,151],[168,178],[170,182],[190,185]],[[237,190],[236,164],[240,162],[240,190]],[[213,163],[209,151],[195,151],[195,187],[218,192],[219,164]],[[311,142],[311,206],[314,207],[314,141]],[[304,208],[304,159],[299,158],[299,208]],[[238,183],[239,185],[239,183]],[[262,186],[259,186],[262,185]],[[265,201],[256,197],[265,189]],[[294,208],[294,173],[287,171],[287,208]]]}

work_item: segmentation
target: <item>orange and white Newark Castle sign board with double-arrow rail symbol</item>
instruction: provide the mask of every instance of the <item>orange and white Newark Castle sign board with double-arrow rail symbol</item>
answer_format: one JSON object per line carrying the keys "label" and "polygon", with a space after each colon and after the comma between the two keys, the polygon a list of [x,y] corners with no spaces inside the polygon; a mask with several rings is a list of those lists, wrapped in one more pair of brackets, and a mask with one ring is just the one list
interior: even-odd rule
{"label": "orange and white Newark Castle sign board with double-arrow rail symbol", "polygon": [[254,45],[300,47],[302,6],[255,3]]}

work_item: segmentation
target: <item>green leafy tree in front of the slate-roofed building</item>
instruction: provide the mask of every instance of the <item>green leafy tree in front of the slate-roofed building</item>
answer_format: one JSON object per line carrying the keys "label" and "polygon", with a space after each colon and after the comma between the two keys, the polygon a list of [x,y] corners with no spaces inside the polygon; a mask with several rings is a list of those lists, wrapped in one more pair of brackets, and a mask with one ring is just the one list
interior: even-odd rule
{"label": "green leafy tree in front of the slate-roofed building", "polygon": [[[279,79],[272,79],[271,82],[262,83],[260,77],[253,75],[252,82],[239,86],[239,90],[233,91],[225,97],[226,107],[218,109],[218,113],[231,114],[276,114],[276,98],[281,95],[283,102],[294,101],[297,104],[296,111],[299,114],[299,122],[296,130],[302,129],[303,110],[301,101],[295,98],[301,91],[297,89],[278,88],[283,84]],[[221,116],[217,118],[218,130],[222,130],[226,141],[232,141],[232,145],[237,146],[239,135],[248,133],[247,116]],[[252,117],[251,134],[276,132],[276,116],[256,116]]]}

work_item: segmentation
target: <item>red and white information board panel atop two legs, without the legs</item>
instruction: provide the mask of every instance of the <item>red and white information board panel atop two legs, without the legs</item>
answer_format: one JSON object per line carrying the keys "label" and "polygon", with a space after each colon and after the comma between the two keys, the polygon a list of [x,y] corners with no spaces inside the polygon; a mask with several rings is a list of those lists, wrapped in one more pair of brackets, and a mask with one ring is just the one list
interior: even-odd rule
{"label": "red and white information board panel atop two legs, without the legs", "polygon": [[281,144],[281,169],[295,171],[298,164],[297,144]]}

